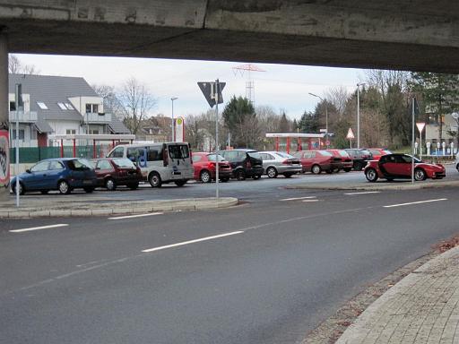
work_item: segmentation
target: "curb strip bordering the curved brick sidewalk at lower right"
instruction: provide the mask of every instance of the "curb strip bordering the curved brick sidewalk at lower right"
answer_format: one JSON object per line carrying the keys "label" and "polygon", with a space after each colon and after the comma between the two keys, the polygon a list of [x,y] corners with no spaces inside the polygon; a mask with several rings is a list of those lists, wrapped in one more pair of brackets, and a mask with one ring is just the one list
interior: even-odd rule
{"label": "curb strip bordering the curved brick sidewalk at lower right", "polygon": [[367,309],[359,315],[354,323],[351,323],[346,331],[342,333],[342,336],[336,340],[335,344],[362,342],[361,340],[372,330],[371,326],[367,323],[368,319],[377,314],[379,307],[382,307],[385,303],[390,302],[396,295],[406,294],[407,290],[410,290],[416,281],[421,278],[421,274],[429,274],[437,271],[440,264],[447,264],[445,262],[446,260],[457,256],[458,254],[459,246],[453,247],[445,253],[437,255],[437,257],[424,263],[418,269],[405,276],[402,280],[397,282],[394,287],[388,289],[381,297],[378,297],[374,303],[368,305]]}

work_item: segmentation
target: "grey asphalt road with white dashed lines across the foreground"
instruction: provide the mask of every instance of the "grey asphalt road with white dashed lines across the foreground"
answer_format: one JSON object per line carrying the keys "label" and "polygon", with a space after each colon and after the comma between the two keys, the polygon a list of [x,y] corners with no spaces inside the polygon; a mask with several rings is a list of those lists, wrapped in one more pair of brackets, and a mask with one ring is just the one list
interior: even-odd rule
{"label": "grey asphalt road with white dashed lines across the foreground", "polygon": [[234,183],[247,204],[219,211],[2,219],[0,343],[297,343],[457,233],[456,188],[277,183]]}

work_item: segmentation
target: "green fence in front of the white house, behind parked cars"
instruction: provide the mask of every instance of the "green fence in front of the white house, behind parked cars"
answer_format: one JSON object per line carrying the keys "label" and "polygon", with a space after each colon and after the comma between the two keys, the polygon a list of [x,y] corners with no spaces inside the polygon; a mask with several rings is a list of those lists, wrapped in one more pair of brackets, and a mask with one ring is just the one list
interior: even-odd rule
{"label": "green fence in front of the white house, behind parked cars", "polygon": [[[94,146],[76,146],[75,148],[74,146],[64,146],[62,150],[61,147],[21,147],[19,149],[19,163],[30,164],[43,159],[73,158],[74,156],[85,159],[103,158],[110,149],[111,147],[107,145],[97,145],[94,154]],[[14,148],[10,149],[10,163],[16,163],[16,150]]]}

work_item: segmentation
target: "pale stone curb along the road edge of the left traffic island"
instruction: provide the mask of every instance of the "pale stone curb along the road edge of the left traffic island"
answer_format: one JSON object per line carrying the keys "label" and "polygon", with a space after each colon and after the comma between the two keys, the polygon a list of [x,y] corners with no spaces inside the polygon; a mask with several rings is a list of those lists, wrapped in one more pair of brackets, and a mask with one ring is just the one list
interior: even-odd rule
{"label": "pale stone curb along the road edge of the left traffic island", "polygon": [[[159,203],[160,204],[155,204]],[[104,215],[130,215],[155,211],[204,211],[212,209],[229,208],[238,205],[238,199],[234,197],[221,198],[217,203],[215,199],[190,199],[169,201],[146,201],[139,207],[113,207],[110,203],[100,203],[99,209],[26,209],[0,211],[0,219],[30,219],[30,218],[56,218],[56,217],[83,217]],[[150,205],[148,205],[150,203]],[[175,203],[175,204],[174,204]],[[178,203],[178,204],[177,204]],[[74,204],[77,208],[78,205]]]}

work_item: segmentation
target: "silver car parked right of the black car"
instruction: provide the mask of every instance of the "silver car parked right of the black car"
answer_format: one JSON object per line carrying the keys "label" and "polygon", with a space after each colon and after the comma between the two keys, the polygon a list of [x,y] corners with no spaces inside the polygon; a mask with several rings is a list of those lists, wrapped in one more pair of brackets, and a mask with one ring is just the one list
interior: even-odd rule
{"label": "silver car parked right of the black car", "polygon": [[263,159],[263,173],[270,178],[283,175],[290,178],[301,173],[301,162],[298,158],[283,151],[259,151]]}

